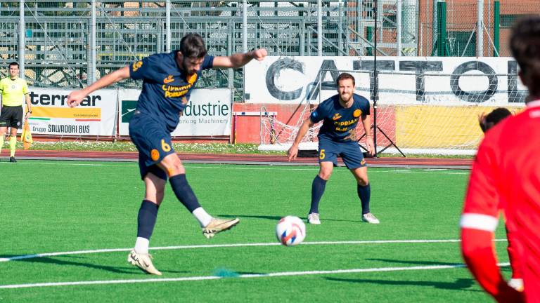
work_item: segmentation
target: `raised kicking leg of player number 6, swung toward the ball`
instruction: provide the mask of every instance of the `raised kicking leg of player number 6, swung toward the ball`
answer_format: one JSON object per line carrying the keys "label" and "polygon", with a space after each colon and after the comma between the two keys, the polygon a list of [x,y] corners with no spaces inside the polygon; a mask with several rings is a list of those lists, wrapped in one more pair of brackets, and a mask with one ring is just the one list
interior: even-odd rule
{"label": "raised kicking leg of player number 6, swung toward the ball", "polygon": [[230,220],[214,218],[200,206],[195,193],[193,193],[193,189],[191,189],[186,179],[186,169],[176,154],[165,156],[158,166],[165,170],[169,176],[169,182],[176,198],[198,220],[200,226],[203,228],[203,235],[206,238],[212,238],[215,234],[231,229],[231,227],[240,222],[237,218]]}

